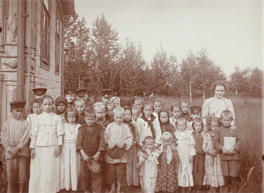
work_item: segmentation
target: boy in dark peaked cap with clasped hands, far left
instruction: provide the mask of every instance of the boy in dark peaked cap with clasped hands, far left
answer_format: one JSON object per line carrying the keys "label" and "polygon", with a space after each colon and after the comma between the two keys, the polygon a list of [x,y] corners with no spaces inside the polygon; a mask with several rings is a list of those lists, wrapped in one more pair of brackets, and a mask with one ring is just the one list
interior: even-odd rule
{"label": "boy in dark peaked cap with clasped hands, far left", "polygon": [[1,131],[1,143],[5,148],[7,192],[16,192],[16,182],[19,192],[23,192],[26,182],[26,162],[28,157],[29,123],[24,120],[23,111],[25,101],[13,101],[10,103],[12,116],[3,124]]}

